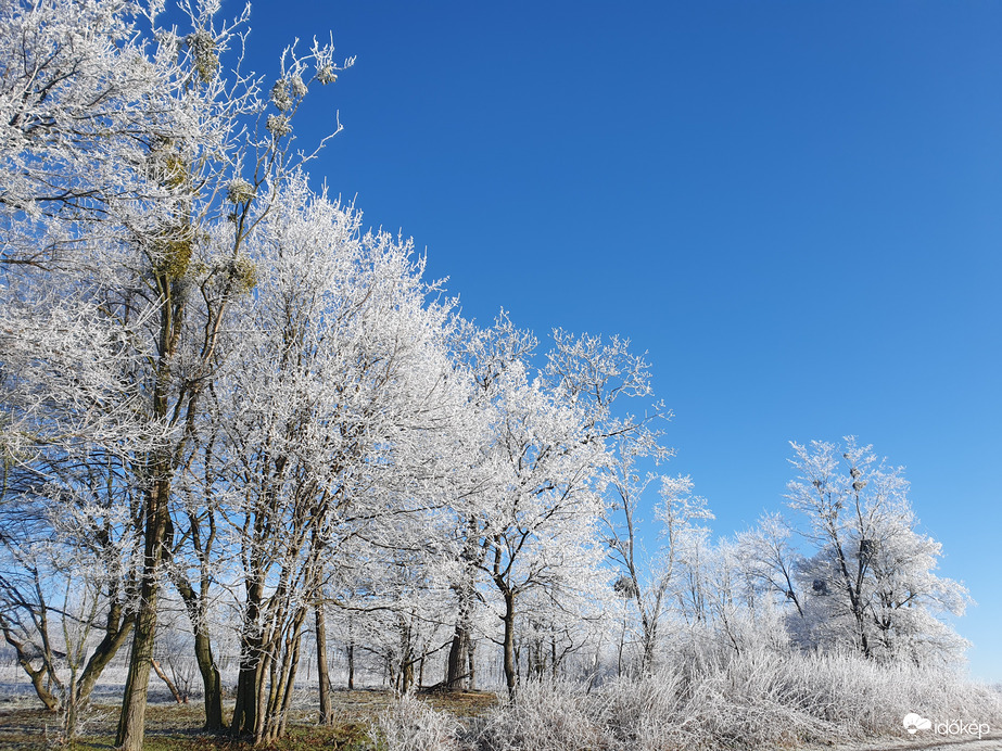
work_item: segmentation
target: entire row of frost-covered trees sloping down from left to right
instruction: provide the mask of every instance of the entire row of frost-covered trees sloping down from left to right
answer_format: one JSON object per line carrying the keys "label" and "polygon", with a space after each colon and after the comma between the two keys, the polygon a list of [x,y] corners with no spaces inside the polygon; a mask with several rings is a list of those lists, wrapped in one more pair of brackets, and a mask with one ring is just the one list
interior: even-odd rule
{"label": "entire row of frost-covered trees sloping down from left to right", "polygon": [[166,612],[206,728],[262,743],[307,634],[321,721],[328,638],[402,691],[429,664],[473,686],[497,649],[511,697],[569,655],[647,673],[683,627],[962,647],[930,613],[966,595],[930,573],[899,470],[795,446],[799,532],[711,542],[689,481],[639,469],[669,458],[669,415],[626,341],[465,320],[409,242],[309,187],[296,112],[351,61],[290,49],[266,82],[234,54],[245,14],[185,9],[179,33],[153,3],[0,8],[0,628],[68,735],[128,645],[116,744],[141,747]]}

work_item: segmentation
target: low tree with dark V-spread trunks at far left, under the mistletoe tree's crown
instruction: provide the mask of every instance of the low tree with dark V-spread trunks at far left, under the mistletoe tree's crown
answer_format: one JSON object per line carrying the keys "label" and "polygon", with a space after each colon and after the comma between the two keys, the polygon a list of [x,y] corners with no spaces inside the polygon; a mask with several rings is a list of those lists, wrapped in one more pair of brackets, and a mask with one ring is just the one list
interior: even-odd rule
{"label": "low tree with dark V-spread trunks at far left, under the mistletoe tree's crown", "polygon": [[[35,454],[30,462],[9,460],[3,468],[0,629],[39,699],[67,713],[68,737],[76,710],[131,633],[140,548],[127,474],[118,457],[97,447],[84,455]],[[67,597],[87,602],[72,631],[100,634],[78,645],[72,678],[52,659],[53,645],[65,640],[67,612],[54,603]]]}

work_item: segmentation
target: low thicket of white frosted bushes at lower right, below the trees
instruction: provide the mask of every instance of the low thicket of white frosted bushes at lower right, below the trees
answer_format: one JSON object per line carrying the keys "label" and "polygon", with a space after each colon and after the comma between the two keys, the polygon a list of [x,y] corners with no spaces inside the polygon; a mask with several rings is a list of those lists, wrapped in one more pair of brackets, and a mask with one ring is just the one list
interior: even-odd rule
{"label": "low thicket of white frosted bushes at lower right, below the trees", "polygon": [[775,749],[900,737],[909,712],[1002,722],[1002,695],[948,670],[890,667],[858,653],[759,649],[703,657],[697,670],[675,660],[652,675],[619,678],[591,693],[569,683],[525,683],[516,702],[481,721],[467,748]]}

